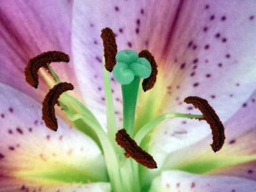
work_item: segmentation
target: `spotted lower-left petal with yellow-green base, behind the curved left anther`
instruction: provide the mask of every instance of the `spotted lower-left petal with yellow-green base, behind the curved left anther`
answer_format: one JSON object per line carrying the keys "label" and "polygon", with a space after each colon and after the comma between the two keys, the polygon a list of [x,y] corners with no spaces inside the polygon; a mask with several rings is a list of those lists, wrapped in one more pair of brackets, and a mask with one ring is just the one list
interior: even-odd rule
{"label": "spotted lower-left petal with yellow-green base, behind the curved left anther", "polygon": [[[58,188],[56,183],[108,180],[102,152],[91,138],[60,118],[58,131],[51,131],[41,120],[38,102],[2,83],[0,102],[1,182],[12,184],[16,180],[25,186],[44,182]],[[12,186],[6,188],[11,191]]]}

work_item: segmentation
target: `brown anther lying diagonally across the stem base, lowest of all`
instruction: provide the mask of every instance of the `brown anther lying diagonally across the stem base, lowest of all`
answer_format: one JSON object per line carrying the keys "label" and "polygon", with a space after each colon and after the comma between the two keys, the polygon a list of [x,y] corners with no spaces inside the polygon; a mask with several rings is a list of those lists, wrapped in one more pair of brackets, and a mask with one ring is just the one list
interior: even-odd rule
{"label": "brown anther lying diagonally across the stem base, lowest of all", "polygon": [[147,168],[157,168],[156,161],[150,154],[140,148],[137,143],[127,134],[125,129],[116,132],[116,143],[125,150],[125,157],[132,157],[135,161],[146,166]]}

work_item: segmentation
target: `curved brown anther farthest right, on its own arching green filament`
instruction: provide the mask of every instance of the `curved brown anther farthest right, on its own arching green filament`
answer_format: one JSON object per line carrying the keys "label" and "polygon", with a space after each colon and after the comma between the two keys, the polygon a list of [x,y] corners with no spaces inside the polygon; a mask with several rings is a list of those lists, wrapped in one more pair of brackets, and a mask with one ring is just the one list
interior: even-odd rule
{"label": "curved brown anther farthest right, on its own arching green filament", "polygon": [[225,128],[214,109],[209,105],[207,100],[200,97],[186,97],[184,102],[193,104],[195,108],[198,108],[202,112],[204,118],[198,118],[198,120],[205,120],[211,127],[213,140],[211,144],[212,150],[214,152],[220,150],[225,141]]}

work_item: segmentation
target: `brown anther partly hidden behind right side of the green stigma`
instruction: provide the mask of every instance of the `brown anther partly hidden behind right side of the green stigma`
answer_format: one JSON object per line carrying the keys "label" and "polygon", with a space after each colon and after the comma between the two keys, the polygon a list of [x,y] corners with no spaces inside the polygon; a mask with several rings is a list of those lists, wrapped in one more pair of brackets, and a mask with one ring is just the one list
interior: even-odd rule
{"label": "brown anther partly hidden behind right side of the green stigma", "polygon": [[154,59],[154,56],[152,56],[152,54],[147,50],[141,51],[139,53],[139,57],[147,59],[150,62],[150,65],[152,68],[151,75],[147,79],[144,79],[142,81],[142,88],[143,88],[144,92],[147,92],[147,90],[152,89],[154,87],[154,84],[156,83],[157,64]]}

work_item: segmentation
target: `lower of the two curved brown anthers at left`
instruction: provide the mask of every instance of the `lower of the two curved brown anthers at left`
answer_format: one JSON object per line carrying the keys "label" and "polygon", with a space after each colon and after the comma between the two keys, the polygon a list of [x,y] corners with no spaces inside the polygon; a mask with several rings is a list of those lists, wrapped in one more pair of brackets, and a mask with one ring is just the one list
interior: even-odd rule
{"label": "lower of the two curved brown anthers at left", "polygon": [[55,116],[54,105],[58,104],[58,99],[63,92],[67,92],[68,90],[73,90],[74,86],[71,83],[63,82],[56,84],[45,96],[42,108],[42,119],[45,122],[45,125],[52,129],[53,131],[57,131],[58,122]]}

